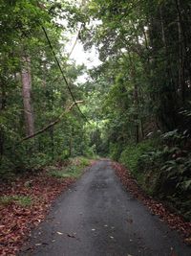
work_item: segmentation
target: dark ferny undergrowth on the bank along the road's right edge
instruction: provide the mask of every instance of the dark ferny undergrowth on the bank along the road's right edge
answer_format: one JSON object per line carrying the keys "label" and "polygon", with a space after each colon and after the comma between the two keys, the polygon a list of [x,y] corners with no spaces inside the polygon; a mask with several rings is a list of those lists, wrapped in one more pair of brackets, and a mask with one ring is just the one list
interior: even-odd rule
{"label": "dark ferny undergrowth on the bank along the road's right edge", "polygon": [[[129,145],[118,160],[150,196],[191,220],[191,153],[186,131],[173,130],[157,138]],[[117,151],[115,151],[117,155]],[[114,152],[113,152],[114,155]]]}

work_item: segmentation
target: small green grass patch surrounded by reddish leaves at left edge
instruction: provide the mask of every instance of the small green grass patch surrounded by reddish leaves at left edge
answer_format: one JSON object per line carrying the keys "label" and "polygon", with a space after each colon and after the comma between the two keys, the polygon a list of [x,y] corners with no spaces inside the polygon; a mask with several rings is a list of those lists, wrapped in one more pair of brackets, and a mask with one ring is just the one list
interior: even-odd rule
{"label": "small green grass patch surrounded by reddish leaves at left edge", "polygon": [[15,202],[23,207],[28,207],[32,205],[32,198],[27,196],[3,196],[0,198],[0,204],[9,205],[12,202]]}

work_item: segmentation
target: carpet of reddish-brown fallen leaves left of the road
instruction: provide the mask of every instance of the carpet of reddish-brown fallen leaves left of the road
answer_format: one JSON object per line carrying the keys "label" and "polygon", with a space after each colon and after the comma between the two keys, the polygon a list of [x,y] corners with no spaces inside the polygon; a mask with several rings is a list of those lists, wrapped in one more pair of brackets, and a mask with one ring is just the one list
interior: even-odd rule
{"label": "carpet of reddish-brown fallen leaves left of the road", "polygon": [[[1,186],[1,197],[12,198],[16,195],[32,198],[31,205],[21,205],[14,200],[0,204],[1,256],[11,256],[18,252],[31,228],[44,220],[53,199],[66,190],[74,180],[71,177],[57,179],[43,171],[38,175],[17,178],[11,184]],[[30,186],[26,185],[29,182]]]}

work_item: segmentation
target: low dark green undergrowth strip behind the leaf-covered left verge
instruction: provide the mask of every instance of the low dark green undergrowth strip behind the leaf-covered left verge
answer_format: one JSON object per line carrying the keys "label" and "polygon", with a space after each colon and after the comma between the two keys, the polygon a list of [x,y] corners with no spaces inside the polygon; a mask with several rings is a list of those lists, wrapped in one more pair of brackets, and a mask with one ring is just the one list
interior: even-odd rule
{"label": "low dark green undergrowth strip behind the leaf-covered left verge", "polygon": [[25,175],[26,173],[39,172],[46,166],[53,166],[53,169],[57,163],[70,163],[71,159],[94,159],[96,155],[93,151],[87,150],[84,156],[76,156],[78,154],[73,154],[70,157],[68,152],[62,151],[62,153],[53,155],[49,152],[39,152],[28,147],[18,147],[14,151],[10,151],[9,155],[3,155],[0,161],[0,179],[9,180],[14,179],[18,175]]}

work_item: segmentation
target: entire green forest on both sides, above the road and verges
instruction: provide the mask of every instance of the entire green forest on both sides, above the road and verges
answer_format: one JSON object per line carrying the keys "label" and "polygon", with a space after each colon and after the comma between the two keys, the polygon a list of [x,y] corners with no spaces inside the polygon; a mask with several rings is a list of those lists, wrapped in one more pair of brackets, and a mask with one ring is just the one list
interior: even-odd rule
{"label": "entire green forest on both sides, above the road and verges", "polygon": [[[2,184],[110,158],[190,221],[190,17],[189,0],[1,0]],[[76,64],[72,35],[98,65]]]}

